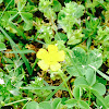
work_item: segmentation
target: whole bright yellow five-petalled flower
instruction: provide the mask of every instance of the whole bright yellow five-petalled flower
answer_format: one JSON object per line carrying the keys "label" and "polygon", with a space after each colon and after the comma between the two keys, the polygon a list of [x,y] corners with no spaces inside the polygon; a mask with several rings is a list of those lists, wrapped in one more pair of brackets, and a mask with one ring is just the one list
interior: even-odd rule
{"label": "whole bright yellow five-petalled flower", "polygon": [[41,59],[38,65],[41,70],[47,71],[48,69],[52,71],[58,71],[61,68],[59,62],[63,61],[65,53],[63,50],[59,51],[58,47],[55,45],[48,46],[48,51],[46,49],[39,49],[37,52],[37,58]]}

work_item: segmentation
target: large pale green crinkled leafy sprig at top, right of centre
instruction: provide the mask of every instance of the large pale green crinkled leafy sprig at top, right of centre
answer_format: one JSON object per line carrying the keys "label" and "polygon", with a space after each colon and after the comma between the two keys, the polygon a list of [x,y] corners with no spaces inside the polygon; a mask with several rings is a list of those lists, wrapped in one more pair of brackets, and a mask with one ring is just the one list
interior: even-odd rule
{"label": "large pale green crinkled leafy sprig at top, right of centre", "polygon": [[65,8],[60,10],[58,14],[58,23],[66,33],[68,38],[71,37],[72,27],[75,23],[80,23],[78,19],[84,13],[84,7],[75,2],[65,3]]}

